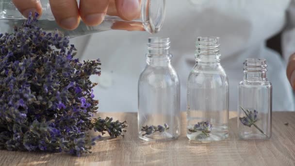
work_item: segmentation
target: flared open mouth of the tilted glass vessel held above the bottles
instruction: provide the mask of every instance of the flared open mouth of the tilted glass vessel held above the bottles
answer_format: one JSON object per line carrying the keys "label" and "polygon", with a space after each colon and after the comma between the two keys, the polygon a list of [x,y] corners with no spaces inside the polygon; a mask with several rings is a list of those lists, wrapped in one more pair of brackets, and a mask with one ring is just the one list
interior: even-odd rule
{"label": "flared open mouth of the tilted glass vessel held above the bottles", "polygon": [[158,33],[163,26],[165,17],[165,0],[143,0],[141,19],[149,33]]}

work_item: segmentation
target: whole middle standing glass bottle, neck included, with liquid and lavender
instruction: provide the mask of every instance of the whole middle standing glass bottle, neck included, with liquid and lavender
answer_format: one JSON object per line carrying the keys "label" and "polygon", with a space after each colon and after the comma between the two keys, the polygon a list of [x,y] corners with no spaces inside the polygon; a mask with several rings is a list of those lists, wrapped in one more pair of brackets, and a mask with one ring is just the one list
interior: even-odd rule
{"label": "whole middle standing glass bottle, neck included, with liquid and lavender", "polygon": [[187,82],[187,137],[198,142],[229,136],[229,82],[220,65],[219,38],[198,37]]}

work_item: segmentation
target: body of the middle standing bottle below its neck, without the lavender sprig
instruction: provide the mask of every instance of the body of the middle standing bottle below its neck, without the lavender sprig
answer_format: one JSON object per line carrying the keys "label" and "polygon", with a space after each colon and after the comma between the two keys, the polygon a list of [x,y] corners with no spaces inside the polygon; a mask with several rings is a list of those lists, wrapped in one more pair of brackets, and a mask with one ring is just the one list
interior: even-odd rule
{"label": "body of the middle standing bottle below its neck, without the lavender sprig", "polygon": [[[187,87],[187,137],[199,142],[224,140],[229,136],[229,84],[224,74],[213,70],[192,72]],[[208,74],[209,73],[209,74]],[[210,133],[190,132],[194,125],[209,121]]]}

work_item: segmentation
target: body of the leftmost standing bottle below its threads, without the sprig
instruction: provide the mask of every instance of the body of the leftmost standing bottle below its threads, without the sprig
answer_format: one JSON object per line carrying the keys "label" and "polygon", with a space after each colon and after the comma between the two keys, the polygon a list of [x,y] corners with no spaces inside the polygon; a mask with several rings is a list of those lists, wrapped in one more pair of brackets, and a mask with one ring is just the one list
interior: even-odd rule
{"label": "body of the leftmost standing bottle below its threads, without the sprig", "polygon": [[[145,141],[176,139],[180,135],[180,81],[174,68],[164,65],[167,61],[155,58],[152,61],[149,63],[153,65],[145,68],[138,82],[139,138]],[[169,126],[165,133],[142,136],[142,126],[165,123]]]}

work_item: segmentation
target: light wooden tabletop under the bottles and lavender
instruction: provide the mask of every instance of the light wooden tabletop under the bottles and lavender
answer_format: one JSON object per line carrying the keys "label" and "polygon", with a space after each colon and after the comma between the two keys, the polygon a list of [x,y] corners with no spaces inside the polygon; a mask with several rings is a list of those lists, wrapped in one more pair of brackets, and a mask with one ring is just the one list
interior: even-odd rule
{"label": "light wooden tabletop under the bottles and lavender", "polygon": [[[137,137],[136,113],[108,113],[127,119],[125,138],[104,139],[93,153],[75,157],[65,153],[0,150],[2,166],[295,166],[295,112],[273,113],[273,135],[269,141],[247,142],[237,137],[236,113],[230,113],[229,138],[213,143],[190,142],[186,138],[185,113],[181,114],[181,136],[169,142],[142,142]],[[288,122],[286,126],[284,123]]]}

